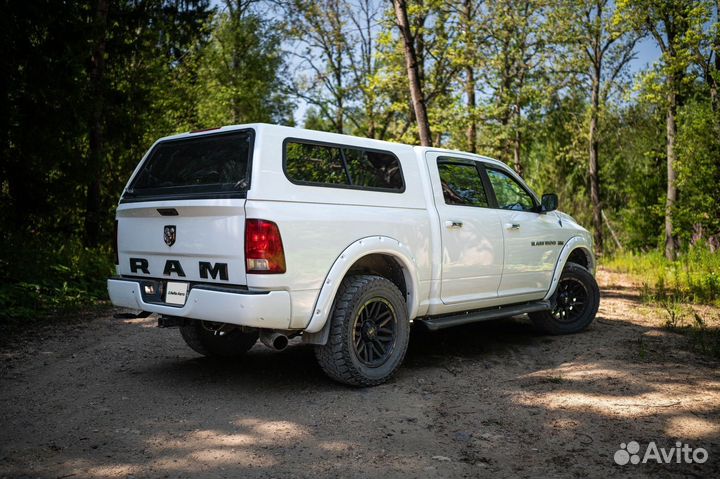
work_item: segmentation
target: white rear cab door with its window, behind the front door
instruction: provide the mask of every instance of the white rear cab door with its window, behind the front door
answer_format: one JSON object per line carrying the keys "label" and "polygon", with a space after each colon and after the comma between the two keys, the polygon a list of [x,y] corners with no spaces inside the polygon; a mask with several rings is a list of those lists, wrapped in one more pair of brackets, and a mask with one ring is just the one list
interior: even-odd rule
{"label": "white rear cab door with its window, behind the front door", "polygon": [[478,161],[438,152],[426,161],[441,232],[441,301],[483,307],[497,299],[502,276],[502,212],[490,207]]}

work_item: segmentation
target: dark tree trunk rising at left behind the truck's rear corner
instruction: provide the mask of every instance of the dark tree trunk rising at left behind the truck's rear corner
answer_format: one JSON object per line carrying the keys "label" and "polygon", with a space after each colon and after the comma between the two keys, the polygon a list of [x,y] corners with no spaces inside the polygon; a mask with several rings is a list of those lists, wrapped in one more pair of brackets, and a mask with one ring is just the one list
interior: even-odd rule
{"label": "dark tree trunk rising at left behind the truck's rear corner", "polygon": [[100,238],[100,182],[103,173],[103,80],[105,75],[105,44],[109,0],[97,0],[95,10],[95,46],[90,69],[92,110],[89,125],[89,151],[87,162],[87,196],[85,206],[85,245],[97,246]]}

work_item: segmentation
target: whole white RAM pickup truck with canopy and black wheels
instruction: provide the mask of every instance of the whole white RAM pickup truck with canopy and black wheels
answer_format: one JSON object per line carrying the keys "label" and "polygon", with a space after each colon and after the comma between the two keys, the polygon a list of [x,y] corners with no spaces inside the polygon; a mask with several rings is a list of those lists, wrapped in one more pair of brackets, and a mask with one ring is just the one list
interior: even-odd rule
{"label": "whole white RAM pickup truck with canopy and black wheels", "polygon": [[108,291],[198,353],[301,335],[331,378],[369,386],[398,369],[413,322],[587,327],[592,239],[556,207],[459,151],[267,124],[181,134],[123,191]]}

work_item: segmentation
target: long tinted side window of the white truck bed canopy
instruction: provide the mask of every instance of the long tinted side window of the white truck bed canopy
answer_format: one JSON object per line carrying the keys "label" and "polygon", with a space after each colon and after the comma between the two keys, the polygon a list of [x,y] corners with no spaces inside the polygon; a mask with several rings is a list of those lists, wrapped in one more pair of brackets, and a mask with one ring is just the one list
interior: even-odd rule
{"label": "long tinted side window of the white truck bed canopy", "polygon": [[380,150],[286,141],[285,174],[298,184],[405,191],[400,161]]}

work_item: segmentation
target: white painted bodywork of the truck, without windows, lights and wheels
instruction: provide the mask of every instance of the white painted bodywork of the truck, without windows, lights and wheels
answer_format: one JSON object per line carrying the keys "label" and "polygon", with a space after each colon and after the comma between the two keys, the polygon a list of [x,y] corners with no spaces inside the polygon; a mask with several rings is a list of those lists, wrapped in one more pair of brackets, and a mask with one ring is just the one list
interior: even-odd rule
{"label": "white painted bodywork of the truck, without windows, lights and wheels", "polygon": [[[482,162],[514,176],[504,164],[489,158],[264,124],[176,135],[156,145],[167,139],[245,129],[254,131],[246,198],[120,203],[118,278],[108,281],[113,304],[317,333],[327,323],[343,278],[368,255],[386,255],[402,269],[410,319],[550,298],[565,262],[579,248],[594,271],[590,235],[567,215],[445,204],[435,166],[438,156]],[[392,153],[402,168],[405,190],[293,183],[284,171],[288,139]],[[142,162],[133,176],[141,167]],[[126,189],[131,183],[132,178]],[[163,209],[175,209],[177,215],[161,215],[158,210]],[[246,219],[278,225],[285,273],[246,274]],[[176,228],[172,245],[163,238],[168,225]],[[147,272],[137,263],[133,268],[132,260],[138,258],[147,261]],[[168,261],[179,262],[184,276],[174,269],[166,274]],[[226,265],[227,277],[208,275],[207,266],[203,275],[200,263]],[[140,291],[145,279],[189,282],[187,302],[178,307],[148,301]],[[205,290],[203,285],[236,290]]]}

